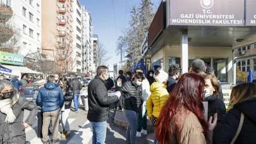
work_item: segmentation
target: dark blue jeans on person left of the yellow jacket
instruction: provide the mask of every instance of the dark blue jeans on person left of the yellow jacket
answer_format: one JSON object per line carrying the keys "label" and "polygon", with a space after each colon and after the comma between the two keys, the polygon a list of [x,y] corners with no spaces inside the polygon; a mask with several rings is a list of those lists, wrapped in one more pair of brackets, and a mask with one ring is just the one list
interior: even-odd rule
{"label": "dark blue jeans on person left of the yellow jacket", "polygon": [[137,133],[137,112],[124,109],[123,111],[128,120],[128,128],[126,131],[126,143],[136,143]]}

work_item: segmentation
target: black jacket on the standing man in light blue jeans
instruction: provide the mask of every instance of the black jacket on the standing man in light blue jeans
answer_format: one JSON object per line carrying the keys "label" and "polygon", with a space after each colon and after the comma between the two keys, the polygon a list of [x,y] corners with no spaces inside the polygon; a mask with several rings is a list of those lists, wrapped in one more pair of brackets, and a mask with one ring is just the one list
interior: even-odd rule
{"label": "black jacket on the standing man in light blue jeans", "polygon": [[105,81],[99,76],[88,85],[89,111],[87,119],[92,122],[107,121],[108,107],[118,100],[118,96],[107,96]]}

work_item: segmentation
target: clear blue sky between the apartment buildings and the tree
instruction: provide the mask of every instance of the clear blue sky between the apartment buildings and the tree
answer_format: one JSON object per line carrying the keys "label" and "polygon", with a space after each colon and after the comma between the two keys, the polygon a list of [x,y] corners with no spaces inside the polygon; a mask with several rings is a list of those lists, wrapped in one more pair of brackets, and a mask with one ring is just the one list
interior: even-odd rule
{"label": "clear blue sky between the apartment buildings and the tree", "polygon": [[[110,57],[106,65],[113,70],[113,64],[119,63],[120,56],[116,54],[118,37],[129,27],[132,6],[140,4],[141,0],[79,0],[80,4],[90,12],[94,34],[107,50]],[[156,11],[161,0],[152,0]]]}

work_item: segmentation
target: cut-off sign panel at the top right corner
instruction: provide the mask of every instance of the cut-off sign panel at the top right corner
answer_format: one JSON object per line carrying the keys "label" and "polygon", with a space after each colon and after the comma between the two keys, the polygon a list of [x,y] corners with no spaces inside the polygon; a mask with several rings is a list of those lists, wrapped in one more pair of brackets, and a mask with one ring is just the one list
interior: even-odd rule
{"label": "cut-off sign panel at the top right corner", "polygon": [[247,9],[246,9],[246,22],[247,26],[256,26],[256,1],[255,0],[247,0],[246,1]]}

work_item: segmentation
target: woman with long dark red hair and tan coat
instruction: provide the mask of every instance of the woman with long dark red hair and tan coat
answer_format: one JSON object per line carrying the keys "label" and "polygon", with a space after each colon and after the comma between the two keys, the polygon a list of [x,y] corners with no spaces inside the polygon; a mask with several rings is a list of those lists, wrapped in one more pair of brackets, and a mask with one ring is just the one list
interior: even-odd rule
{"label": "woman with long dark red hair and tan coat", "polygon": [[212,117],[209,123],[205,121],[203,98],[202,76],[193,73],[181,76],[157,121],[155,136],[159,143],[202,144],[212,140],[208,132],[216,126],[217,115],[214,114],[214,121]]}

